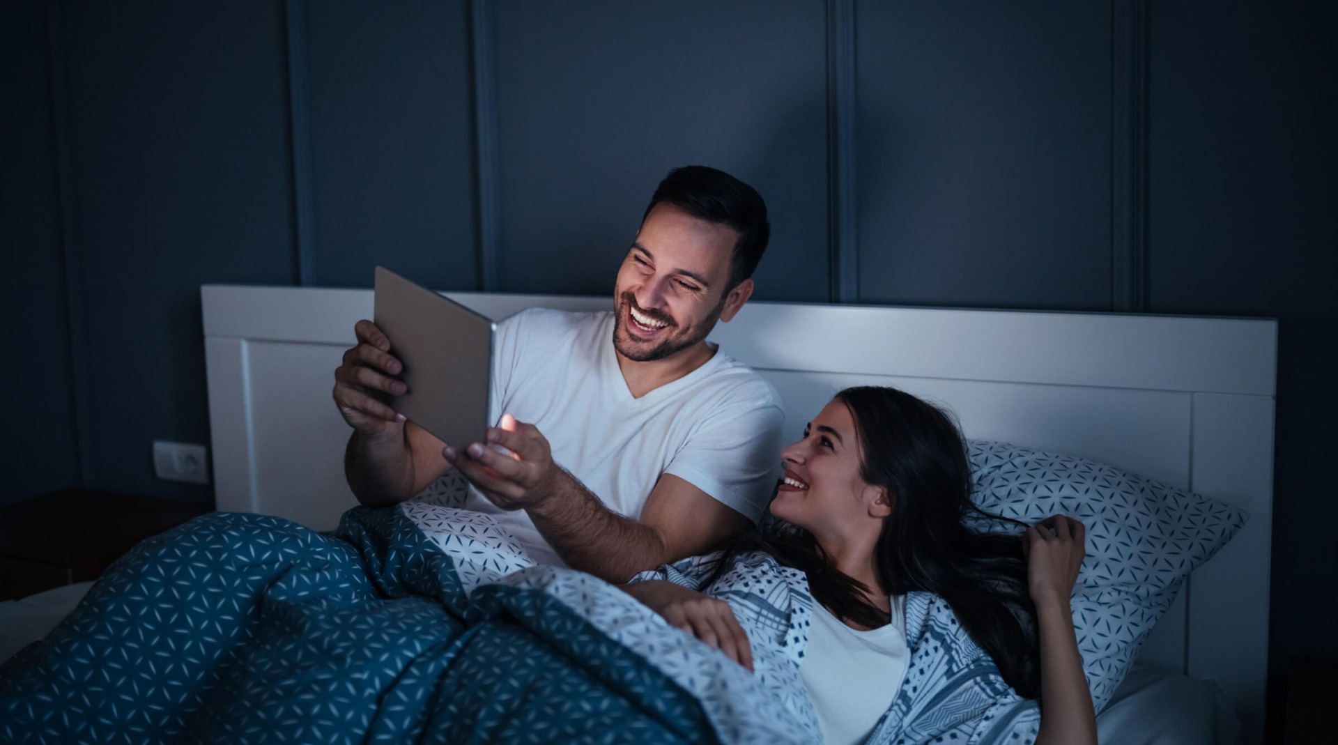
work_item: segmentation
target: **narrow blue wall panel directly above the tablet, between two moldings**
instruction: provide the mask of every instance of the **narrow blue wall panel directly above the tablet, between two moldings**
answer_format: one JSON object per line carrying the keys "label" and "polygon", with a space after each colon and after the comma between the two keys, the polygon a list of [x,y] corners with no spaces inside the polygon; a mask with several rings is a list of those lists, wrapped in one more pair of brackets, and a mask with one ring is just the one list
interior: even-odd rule
{"label": "narrow blue wall panel directly above the tablet, between two moldings", "polygon": [[475,289],[464,5],[305,4],[317,285],[369,288],[384,263]]}

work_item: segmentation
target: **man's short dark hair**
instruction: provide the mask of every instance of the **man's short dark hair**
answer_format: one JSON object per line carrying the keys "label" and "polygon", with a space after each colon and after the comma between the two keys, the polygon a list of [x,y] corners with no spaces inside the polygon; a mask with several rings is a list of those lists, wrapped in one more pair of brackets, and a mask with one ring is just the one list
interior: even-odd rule
{"label": "man's short dark hair", "polygon": [[725,292],[752,277],[767,250],[767,242],[771,241],[767,203],[756,189],[717,169],[684,166],[669,171],[660,182],[641,221],[645,222],[650,210],[661,202],[694,218],[728,226],[739,234],[735,253],[729,258],[729,284]]}

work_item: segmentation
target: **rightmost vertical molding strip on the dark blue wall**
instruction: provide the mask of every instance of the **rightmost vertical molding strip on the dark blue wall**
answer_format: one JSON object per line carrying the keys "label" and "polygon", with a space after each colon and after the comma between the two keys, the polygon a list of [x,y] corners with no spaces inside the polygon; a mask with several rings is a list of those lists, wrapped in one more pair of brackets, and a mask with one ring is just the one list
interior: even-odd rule
{"label": "rightmost vertical molding strip on the dark blue wall", "polygon": [[1148,0],[1115,0],[1111,66],[1111,309],[1148,309]]}

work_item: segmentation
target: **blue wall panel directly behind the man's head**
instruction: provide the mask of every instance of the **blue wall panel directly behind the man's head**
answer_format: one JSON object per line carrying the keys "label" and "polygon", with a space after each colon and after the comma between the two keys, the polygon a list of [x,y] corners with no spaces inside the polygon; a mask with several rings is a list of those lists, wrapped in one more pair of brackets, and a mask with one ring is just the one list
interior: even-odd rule
{"label": "blue wall panel directly behind the man's head", "polygon": [[827,300],[826,7],[495,7],[500,289],[605,294],[674,166],[757,187],[767,300]]}

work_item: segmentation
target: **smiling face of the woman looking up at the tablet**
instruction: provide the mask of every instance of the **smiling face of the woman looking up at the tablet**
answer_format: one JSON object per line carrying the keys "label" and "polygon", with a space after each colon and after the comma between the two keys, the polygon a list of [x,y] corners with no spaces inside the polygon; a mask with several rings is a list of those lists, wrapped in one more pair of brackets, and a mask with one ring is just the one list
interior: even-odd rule
{"label": "smiling face of the woman looking up at the tablet", "polygon": [[[883,490],[859,473],[863,448],[855,419],[832,400],[804,429],[804,437],[781,452],[785,476],[771,514],[824,539],[848,539],[854,531],[879,530],[887,515]],[[882,499],[882,506],[879,506]]]}

